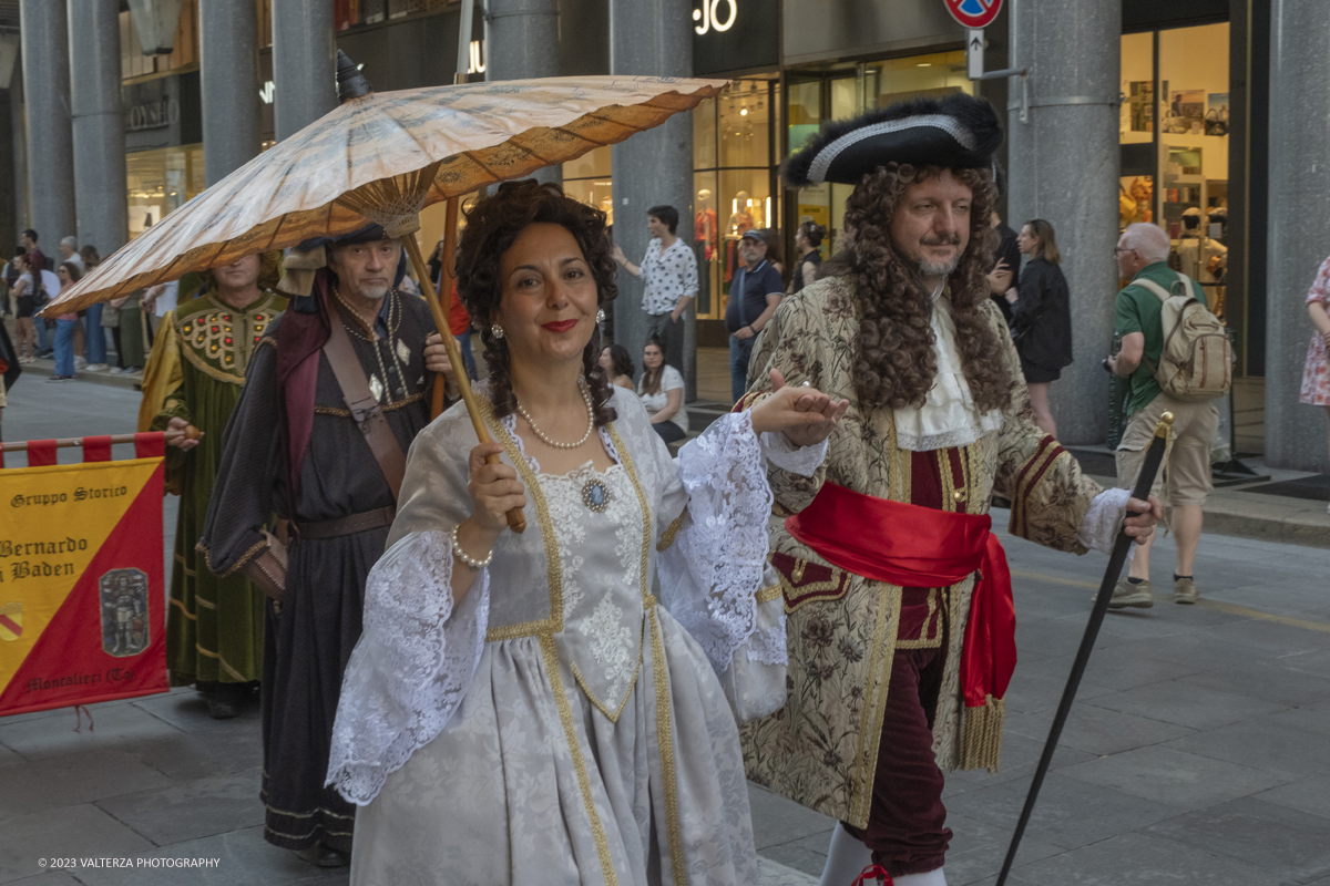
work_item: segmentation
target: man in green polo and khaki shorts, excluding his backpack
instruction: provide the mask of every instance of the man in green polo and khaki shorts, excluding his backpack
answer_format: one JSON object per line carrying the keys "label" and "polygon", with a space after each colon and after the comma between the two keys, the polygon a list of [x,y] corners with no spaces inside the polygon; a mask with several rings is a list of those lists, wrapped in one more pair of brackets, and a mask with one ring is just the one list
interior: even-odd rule
{"label": "man in green polo and khaki shorts, excluding his backpack", "polygon": [[[1172,529],[1177,535],[1177,571],[1173,573],[1173,602],[1196,603],[1200,594],[1192,579],[1196,547],[1201,541],[1201,509],[1213,489],[1210,477],[1210,440],[1220,414],[1213,402],[1182,402],[1160,391],[1154,380],[1160,353],[1164,351],[1164,302],[1144,282],[1170,292],[1180,278],[1192,294],[1205,303],[1205,294],[1196,280],[1168,266],[1168,234],[1154,224],[1129,224],[1117,242],[1117,267],[1127,287],[1117,294],[1115,327],[1123,339],[1116,357],[1108,359],[1115,373],[1132,380],[1127,413],[1130,416],[1123,441],[1117,445],[1117,484],[1130,489],[1145,460],[1145,449],[1164,412],[1173,413],[1173,434],[1165,461],[1169,501],[1173,505]],[[1165,472],[1154,481],[1154,494],[1162,490]],[[1150,547],[1154,539],[1136,549],[1128,578],[1113,590],[1111,608],[1154,604],[1150,586]]]}

